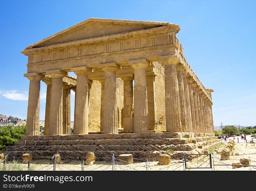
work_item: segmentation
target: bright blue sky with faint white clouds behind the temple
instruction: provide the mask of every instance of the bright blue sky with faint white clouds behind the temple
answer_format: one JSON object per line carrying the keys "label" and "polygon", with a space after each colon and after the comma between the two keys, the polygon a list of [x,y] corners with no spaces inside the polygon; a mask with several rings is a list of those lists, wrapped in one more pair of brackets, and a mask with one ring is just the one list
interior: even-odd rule
{"label": "bright blue sky with faint white clouds behind the temple", "polygon": [[[27,56],[20,51],[90,17],[178,24],[184,56],[213,89],[214,125],[256,125],[256,1],[0,1],[0,114],[26,119]],[[73,74],[75,76],[75,74]],[[46,85],[41,83],[40,120]],[[71,95],[74,119],[74,94]]]}

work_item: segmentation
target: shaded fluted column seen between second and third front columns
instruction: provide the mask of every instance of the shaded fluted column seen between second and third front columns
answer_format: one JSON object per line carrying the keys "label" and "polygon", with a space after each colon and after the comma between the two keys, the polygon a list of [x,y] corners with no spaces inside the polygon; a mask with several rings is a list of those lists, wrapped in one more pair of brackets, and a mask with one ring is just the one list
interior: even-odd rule
{"label": "shaded fluted column seen between second and third front columns", "polygon": [[70,83],[63,83],[62,96],[63,96],[63,134],[71,134],[70,124],[70,89],[72,86]]}

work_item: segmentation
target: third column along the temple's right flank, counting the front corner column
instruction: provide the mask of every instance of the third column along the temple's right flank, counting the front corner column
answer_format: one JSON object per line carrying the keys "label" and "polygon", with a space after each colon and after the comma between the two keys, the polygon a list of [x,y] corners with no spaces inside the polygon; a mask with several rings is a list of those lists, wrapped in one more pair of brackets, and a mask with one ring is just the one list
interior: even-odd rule
{"label": "third column along the temple's right flank, counting the front corner column", "polygon": [[187,127],[188,132],[193,132],[192,130],[192,114],[191,114],[191,103],[190,103],[190,95],[189,95],[189,83],[188,83],[188,71],[184,71],[183,73],[183,82],[184,82],[184,92],[185,92],[185,99],[186,99],[186,119],[187,119]]}

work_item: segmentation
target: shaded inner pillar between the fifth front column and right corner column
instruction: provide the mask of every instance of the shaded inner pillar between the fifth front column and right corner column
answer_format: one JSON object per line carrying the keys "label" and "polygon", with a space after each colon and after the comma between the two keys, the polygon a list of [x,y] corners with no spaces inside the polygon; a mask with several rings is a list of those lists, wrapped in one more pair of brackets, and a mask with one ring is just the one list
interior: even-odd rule
{"label": "shaded inner pillar between the fifth front column and right corner column", "polygon": [[155,130],[157,120],[157,107],[156,107],[156,92],[155,92],[155,77],[154,72],[146,73],[147,81],[147,105],[148,105],[148,130]]}

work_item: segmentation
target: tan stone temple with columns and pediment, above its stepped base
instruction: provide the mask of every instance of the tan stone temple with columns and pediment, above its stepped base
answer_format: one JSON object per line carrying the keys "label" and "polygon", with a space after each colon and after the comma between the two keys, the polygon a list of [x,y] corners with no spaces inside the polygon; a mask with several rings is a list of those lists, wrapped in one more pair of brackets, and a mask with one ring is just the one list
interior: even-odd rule
{"label": "tan stone temple with columns and pediment, above its stepped base", "polygon": [[89,18],[26,47],[21,51],[28,56],[24,76],[30,80],[26,135],[39,135],[42,80],[47,84],[45,135],[71,133],[72,90],[74,134],[95,127],[102,133],[214,136],[213,90],[202,85],[184,58],[179,30],[168,22]]}

